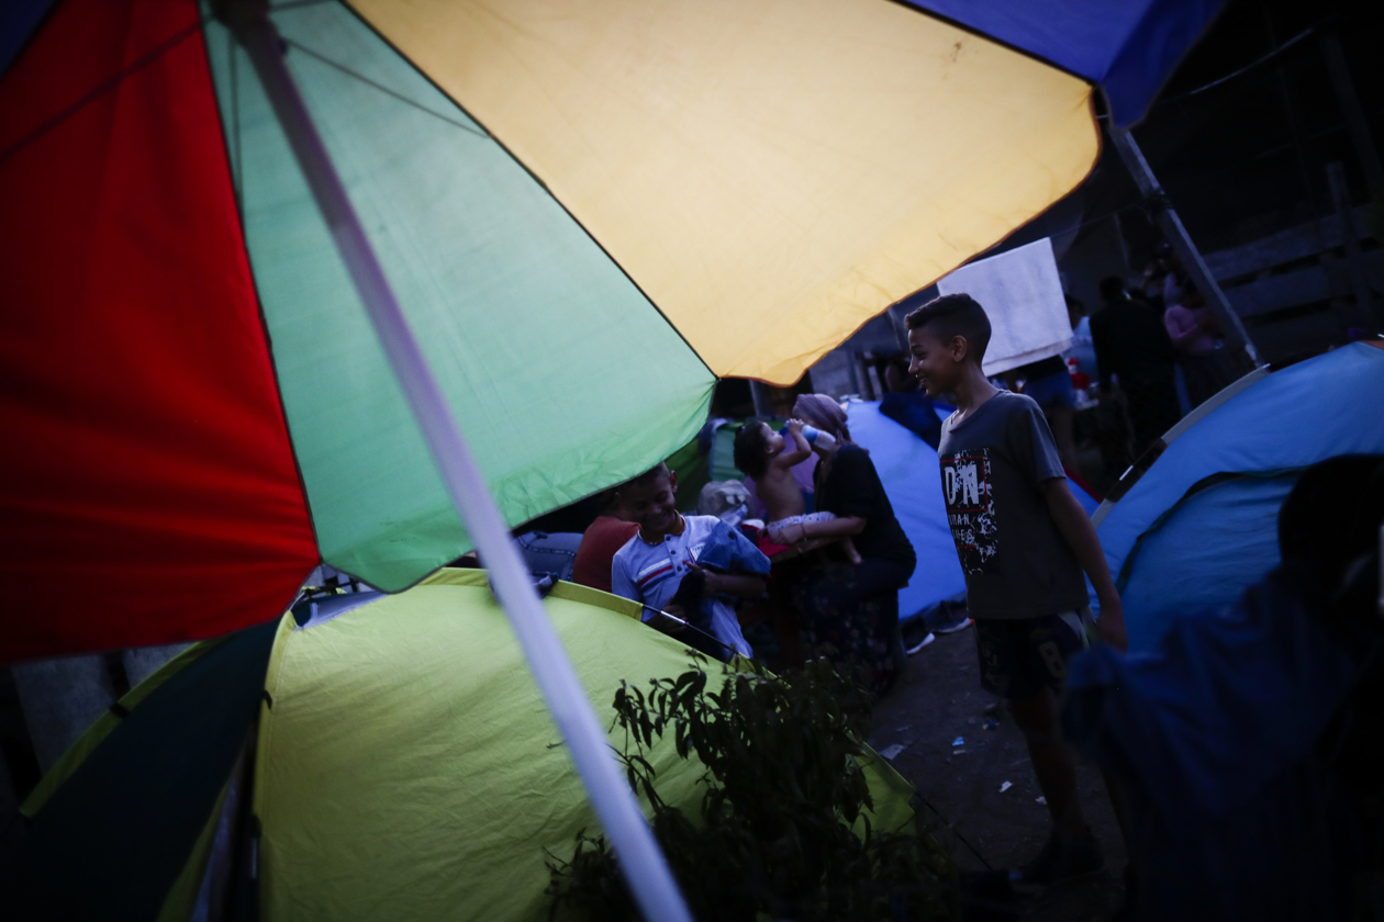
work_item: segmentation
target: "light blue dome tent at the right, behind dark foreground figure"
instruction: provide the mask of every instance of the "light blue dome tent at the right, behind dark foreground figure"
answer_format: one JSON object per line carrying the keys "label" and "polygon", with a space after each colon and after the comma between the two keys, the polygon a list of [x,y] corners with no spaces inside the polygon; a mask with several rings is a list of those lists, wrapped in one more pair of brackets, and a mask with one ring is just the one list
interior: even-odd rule
{"label": "light blue dome tent at the right, behind dark foreground figure", "polygon": [[1235,603],[1277,565],[1279,507],[1298,474],[1384,452],[1381,395],[1384,348],[1354,343],[1257,372],[1168,433],[1158,460],[1095,517],[1131,652],[1154,650],[1182,614]]}

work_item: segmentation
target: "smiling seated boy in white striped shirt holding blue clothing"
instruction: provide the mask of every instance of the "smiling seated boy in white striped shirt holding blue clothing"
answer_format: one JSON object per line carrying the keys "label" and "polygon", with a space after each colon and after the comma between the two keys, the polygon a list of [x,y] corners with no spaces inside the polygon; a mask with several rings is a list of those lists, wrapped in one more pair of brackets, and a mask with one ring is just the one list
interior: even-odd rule
{"label": "smiling seated boy in white striped shirt holding blue clothing", "polygon": [[[639,529],[610,563],[612,589],[646,605],[646,623],[689,647],[722,661],[734,654],[752,657],[727,599],[763,596],[768,557],[716,516],[678,513],[677,489],[678,476],[664,464],[617,488],[621,516]],[[710,568],[711,560],[717,570]]]}

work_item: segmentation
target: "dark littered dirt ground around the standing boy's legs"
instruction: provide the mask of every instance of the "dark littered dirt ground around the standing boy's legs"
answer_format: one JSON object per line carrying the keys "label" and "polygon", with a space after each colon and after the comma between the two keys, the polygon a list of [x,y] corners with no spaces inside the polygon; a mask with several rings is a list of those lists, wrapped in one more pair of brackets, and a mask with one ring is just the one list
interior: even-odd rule
{"label": "dark littered dirt ground around the standing boy's legs", "polygon": [[[994,701],[980,687],[976,632],[967,628],[938,636],[909,657],[898,686],[875,708],[871,745],[879,752],[904,746],[894,767],[936,809],[923,806],[919,816],[962,871],[984,871],[987,863],[992,868],[1021,865],[1038,854],[1050,828],[1023,734],[1003,708],[994,719],[983,713]],[[999,726],[987,730],[987,720],[995,719]],[[958,737],[965,742],[954,746]],[[1012,787],[1001,793],[1006,781]],[[1120,907],[1125,850],[1104,782],[1099,770],[1081,764],[1078,784],[1106,871],[1026,900],[1026,921],[1104,922]]]}

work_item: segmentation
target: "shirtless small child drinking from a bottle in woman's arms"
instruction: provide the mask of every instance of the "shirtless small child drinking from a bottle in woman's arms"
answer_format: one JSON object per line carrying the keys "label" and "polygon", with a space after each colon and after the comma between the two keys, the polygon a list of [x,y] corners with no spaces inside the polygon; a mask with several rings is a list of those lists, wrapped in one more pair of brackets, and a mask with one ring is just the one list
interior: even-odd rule
{"label": "shirtless small child drinking from a bottle in woman's arms", "polygon": [[[793,448],[787,446],[789,438],[793,440]],[[817,433],[817,438],[828,440],[823,448],[830,446],[832,437],[828,433]],[[750,423],[735,435],[735,466],[754,481],[754,492],[768,510],[765,531],[775,545],[808,540],[812,525],[836,518],[832,513],[805,514],[807,503],[793,478],[793,466],[807,460],[811,453],[812,446],[803,435],[800,419],[789,420],[787,438],[770,429],[768,423]],[[861,563],[850,535],[837,538],[835,543],[840,545],[853,564]]]}

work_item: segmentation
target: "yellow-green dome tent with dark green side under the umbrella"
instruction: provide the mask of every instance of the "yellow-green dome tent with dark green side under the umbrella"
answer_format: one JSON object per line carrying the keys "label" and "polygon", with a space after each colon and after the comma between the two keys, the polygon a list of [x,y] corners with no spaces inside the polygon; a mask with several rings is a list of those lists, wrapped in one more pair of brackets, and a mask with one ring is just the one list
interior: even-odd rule
{"label": "yellow-green dome tent with dark green side under the umbrella", "polygon": [[[25,803],[21,910],[187,919],[201,899],[257,901],[266,919],[547,918],[547,853],[566,858],[599,824],[486,579],[444,570],[397,596],[300,605],[170,661]],[[545,607],[606,726],[621,679],[688,668],[630,601],[559,583]],[[671,745],[650,760],[660,793],[695,807],[703,766]],[[911,822],[912,788],[880,759],[866,771],[873,825]],[[217,836],[230,847],[209,860]]]}

